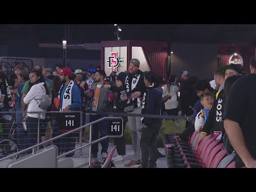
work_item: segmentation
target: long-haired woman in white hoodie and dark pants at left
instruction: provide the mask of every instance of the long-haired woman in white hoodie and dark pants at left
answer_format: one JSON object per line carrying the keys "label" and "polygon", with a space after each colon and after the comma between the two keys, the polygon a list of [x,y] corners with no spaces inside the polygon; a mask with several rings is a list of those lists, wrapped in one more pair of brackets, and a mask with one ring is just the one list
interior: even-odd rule
{"label": "long-haired woman in white hoodie and dark pants at left", "polygon": [[[39,133],[42,141],[45,141],[45,110],[39,107],[39,103],[48,91],[45,84],[45,80],[41,71],[32,71],[29,75],[29,92],[26,97],[23,99],[23,102],[27,105],[27,114],[22,122],[27,123],[28,130],[28,143],[27,147],[36,145],[37,143],[37,124],[39,117]],[[49,93],[47,93],[49,94]],[[38,114],[29,113],[29,112],[43,112]],[[31,153],[31,150],[27,151],[27,154]]]}

